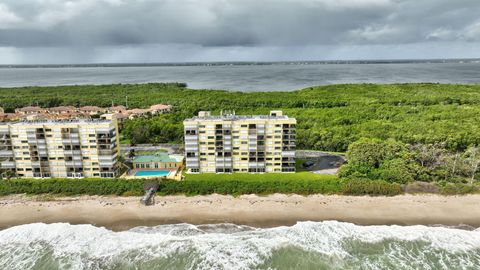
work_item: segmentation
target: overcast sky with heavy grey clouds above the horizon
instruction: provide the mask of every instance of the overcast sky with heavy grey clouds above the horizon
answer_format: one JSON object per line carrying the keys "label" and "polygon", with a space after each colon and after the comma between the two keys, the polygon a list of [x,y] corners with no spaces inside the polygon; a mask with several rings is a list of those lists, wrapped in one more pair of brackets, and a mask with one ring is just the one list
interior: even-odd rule
{"label": "overcast sky with heavy grey clouds above the horizon", "polygon": [[480,57],[480,0],[0,0],[0,64]]}

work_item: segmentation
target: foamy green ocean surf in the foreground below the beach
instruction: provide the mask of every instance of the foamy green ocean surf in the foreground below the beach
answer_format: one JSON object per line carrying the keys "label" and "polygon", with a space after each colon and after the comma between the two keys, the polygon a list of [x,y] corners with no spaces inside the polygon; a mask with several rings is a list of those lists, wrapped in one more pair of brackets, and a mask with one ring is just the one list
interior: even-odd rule
{"label": "foamy green ocean surf in the foreground below the beach", "polygon": [[480,230],[299,222],[0,231],[2,269],[479,269]]}

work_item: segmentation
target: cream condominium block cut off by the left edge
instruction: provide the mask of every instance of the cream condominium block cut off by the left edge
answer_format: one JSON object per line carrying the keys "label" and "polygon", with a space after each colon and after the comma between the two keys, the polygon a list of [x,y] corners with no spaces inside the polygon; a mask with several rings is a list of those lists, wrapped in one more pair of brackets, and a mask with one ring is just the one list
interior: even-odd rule
{"label": "cream condominium block cut off by the left edge", "polygon": [[0,123],[0,169],[18,177],[117,176],[115,118]]}

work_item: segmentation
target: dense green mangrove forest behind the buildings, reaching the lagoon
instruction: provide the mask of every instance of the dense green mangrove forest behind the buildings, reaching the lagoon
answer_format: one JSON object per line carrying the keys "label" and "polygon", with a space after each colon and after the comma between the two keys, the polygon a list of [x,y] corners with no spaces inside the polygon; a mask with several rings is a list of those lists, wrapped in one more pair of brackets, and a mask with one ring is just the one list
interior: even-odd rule
{"label": "dense green mangrove forest behind the buildings, reaching the lagoon", "polygon": [[265,114],[283,109],[296,117],[300,149],[344,152],[361,138],[389,138],[409,144],[441,143],[449,150],[480,144],[480,85],[348,84],[311,87],[294,92],[191,90],[184,84],[113,84],[0,89],[7,111],[25,105],[155,103],[174,105],[172,113],[125,123],[131,143],[177,142],[182,121],[200,110],[235,110]]}

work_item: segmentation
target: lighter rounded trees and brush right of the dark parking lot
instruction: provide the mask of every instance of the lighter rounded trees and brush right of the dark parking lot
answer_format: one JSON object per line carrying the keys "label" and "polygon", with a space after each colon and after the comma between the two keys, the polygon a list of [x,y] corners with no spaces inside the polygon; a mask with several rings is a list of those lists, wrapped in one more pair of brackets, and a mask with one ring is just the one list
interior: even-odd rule
{"label": "lighter rounded trees and brush right of the dark parking lot", "polygon": [[361,139],[347,151],[348,163],[340,169],[341,178],[384,180],[408,184],[432,182],[444,194],[464,194],[478,190],[480,148],[464,151],[444,144],[405,144],[393,139]]}

